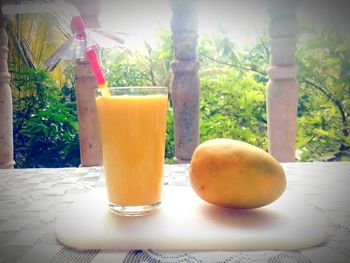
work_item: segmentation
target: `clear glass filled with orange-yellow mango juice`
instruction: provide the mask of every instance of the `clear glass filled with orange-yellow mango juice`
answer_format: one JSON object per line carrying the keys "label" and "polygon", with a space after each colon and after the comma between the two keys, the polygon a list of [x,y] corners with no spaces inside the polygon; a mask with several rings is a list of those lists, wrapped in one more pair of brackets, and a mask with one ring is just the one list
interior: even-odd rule
{"label": "clear glass filled with orange-yellow mango juice", "polygon": [[109,208],[119,215],[148,214],[161,205],[168,89],[97,93]]}

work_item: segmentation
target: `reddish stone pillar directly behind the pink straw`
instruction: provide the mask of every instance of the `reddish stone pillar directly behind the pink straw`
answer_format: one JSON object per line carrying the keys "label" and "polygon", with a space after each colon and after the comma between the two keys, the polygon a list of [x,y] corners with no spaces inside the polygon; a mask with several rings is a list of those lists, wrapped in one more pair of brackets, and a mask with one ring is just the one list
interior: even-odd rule
{"label": "reddish stone pillar directly behind the pink straw", "polygon": [[[99,1],[69,0],[67,2],[76,6],[87,28],[100,27],[98,21],[98,15],[100,13]],[[80,165],[102,165],[102,147],[95,104],[95,89],[97,88],[97,82],[89,63],[86,61],[76,61],[75,76],[79,123]]]}

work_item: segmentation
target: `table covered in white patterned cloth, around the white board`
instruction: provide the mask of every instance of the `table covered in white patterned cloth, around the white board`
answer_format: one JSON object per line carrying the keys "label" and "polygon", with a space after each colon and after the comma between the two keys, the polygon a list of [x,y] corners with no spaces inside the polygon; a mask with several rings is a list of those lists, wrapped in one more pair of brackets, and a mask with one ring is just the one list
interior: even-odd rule
{"label": "table covered in white patterned cloth, around the white board", "polygon": [[[293,251],[75,250],[55,222],[77,198],[104,187],[101,167],[0,170],[0,262],[350,262],[350,162],[282,164],[288,188],[326,215],[321,246]],[[188,165],[166,165],[165,184],[188,184]]]}

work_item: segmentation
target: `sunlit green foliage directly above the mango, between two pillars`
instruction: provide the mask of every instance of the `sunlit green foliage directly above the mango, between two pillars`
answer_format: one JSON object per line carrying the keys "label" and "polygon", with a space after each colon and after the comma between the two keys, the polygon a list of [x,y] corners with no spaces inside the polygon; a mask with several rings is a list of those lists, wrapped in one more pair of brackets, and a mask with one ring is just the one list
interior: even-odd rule
{"label": "sunlit green foliage directly above the mango, between two pillars", "polygon": [[238,49],[224,30],[200,40],[201,141],[225,137],[267,149],[264,51]]}

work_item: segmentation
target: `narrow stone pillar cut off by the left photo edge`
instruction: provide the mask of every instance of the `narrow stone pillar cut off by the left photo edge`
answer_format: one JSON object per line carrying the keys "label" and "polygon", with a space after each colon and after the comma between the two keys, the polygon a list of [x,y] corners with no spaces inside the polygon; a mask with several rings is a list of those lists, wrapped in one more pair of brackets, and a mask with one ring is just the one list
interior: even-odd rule
{"label": "narrow stone pillar cut off by the left photo edge", "polygon": [[0,13],[0,169],[13,168],[13,109],[8,71],[6,17]]}

